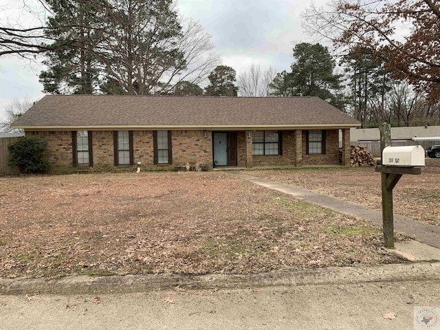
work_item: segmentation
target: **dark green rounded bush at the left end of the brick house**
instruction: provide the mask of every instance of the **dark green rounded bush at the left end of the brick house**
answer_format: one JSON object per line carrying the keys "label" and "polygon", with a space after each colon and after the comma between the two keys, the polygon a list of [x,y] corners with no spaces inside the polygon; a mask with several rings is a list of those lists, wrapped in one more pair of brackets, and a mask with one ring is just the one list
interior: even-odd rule
{"label": "dark green rounded bush at the left end of the brick house", "polygon": [[43,157],[47,144],[39,137],[22,137],[18,142],[8,146],[9,166],[17,166],[21,173],[44,173],[49,168]]}

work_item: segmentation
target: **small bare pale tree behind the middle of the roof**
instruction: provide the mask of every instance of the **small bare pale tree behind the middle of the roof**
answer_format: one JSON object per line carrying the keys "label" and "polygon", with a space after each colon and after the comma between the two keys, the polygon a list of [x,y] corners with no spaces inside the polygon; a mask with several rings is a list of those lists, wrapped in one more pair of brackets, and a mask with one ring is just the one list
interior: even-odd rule
{"label": "small bare pale tree behind the middle of the roof", "polygon": [[273,67],[269,67],[263,72],[260,65],[252,64],[250,69],[239,74],[237,79],[240,96],[269,96],[270,84],[275,76],[276,72]]}

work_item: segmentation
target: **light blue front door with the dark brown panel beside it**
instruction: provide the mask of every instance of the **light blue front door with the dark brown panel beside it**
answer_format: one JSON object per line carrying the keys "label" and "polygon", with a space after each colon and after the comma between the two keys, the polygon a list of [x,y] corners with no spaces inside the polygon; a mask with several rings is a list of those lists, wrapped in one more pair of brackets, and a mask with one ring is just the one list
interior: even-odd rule
{"label": "light blue front door with the dark brown panel beside it", "polygon": [[236,166],[236,132],[212,133],[215,166]]}

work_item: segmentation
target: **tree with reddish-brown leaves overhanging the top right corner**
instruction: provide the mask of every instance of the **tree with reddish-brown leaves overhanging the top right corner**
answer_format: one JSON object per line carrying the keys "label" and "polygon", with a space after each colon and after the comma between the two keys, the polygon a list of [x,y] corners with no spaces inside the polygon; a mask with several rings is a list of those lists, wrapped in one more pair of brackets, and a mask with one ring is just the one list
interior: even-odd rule
{"label": "tree with reddish-brown leaves overhanging the top right corner", "polygon": [[303,12],[303,28],[346,50],[369,49],[397,79],[440,100],[437,0],[333,0]]}

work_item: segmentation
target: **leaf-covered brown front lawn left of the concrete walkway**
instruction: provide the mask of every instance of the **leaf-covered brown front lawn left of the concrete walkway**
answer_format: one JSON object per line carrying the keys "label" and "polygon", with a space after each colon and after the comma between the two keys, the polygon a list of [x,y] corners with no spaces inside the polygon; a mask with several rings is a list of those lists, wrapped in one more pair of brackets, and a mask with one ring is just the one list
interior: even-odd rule
{"label": "leaf-covered brown front lawn left of the concrete walkway", "polygon": [[2,177],[0,191],[3,278],[399,262],[367,221],[227,173]]}

